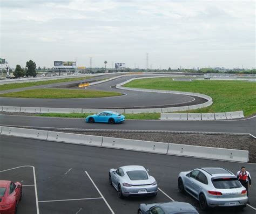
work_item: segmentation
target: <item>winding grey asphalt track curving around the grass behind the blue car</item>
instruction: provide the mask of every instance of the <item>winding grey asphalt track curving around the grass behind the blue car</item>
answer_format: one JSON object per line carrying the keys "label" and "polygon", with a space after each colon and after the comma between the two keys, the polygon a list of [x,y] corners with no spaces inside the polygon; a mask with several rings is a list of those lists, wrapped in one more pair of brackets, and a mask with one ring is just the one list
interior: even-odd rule
{"label": "winding grey asphalt track curving around the grass behind the blue car", "polygon": [[[113,74],[115,75],[115,74]],[[144,75],[145,76],[145,75]],[[147,75],[150,77],[151,75]],[[107,77],[110,77],[109,75]],[[23,106],[23,107],[53,107],[53,108],[152,108],[152,107],[174,107],[184,105],[194,105],[206,102],[205,99],[194,98],[193,96],[180,95],[180,94],[164,94],[164,93],[149,93],[149,92],[136,92],[120,90],[111,88],[120,82],[124,82],[133,77],[142,77],[142,75],[118,78],[112,81],[107,81],[100,85],[89,86],[87,89],[99,91],[115,91],[125,94],[124,96],[116,96],[112,98],[97,98],[97,99],[24,99],[24,98],[0,98],[0,106]],[[93,81],[102,79],[104,76],[87,79],[85,81]],[[80,81],[72,81],[69,84],[79,83]],[[56,86],[69,85],[67,82],[35,86],[33,88],[49,88]],[[0,93],[21,91],[23,89],[12,89],[9,91],[2,91]],[[196,100],[195,100],[196,99]]]}

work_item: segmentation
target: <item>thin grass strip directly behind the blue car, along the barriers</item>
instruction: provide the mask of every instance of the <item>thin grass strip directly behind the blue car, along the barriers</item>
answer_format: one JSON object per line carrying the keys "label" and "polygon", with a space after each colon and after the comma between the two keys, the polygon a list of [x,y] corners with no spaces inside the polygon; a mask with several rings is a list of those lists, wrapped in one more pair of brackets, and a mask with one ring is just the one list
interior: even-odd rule
{"label": "thin grass strip directly behind the blue car, along the barriers", "polygon": [[[117,109],[118,112],[118,109]],[[56,118],[86,118],[91,114],[82,114],[82,113],[70,113],[70,114],[62,114],[62,113],[44,113],[44,114],[36,114],[37,116],[49,116]],[[158,120],[160,118],[160,113],[142,113],[142,114],[123,114],[126,120]]]}

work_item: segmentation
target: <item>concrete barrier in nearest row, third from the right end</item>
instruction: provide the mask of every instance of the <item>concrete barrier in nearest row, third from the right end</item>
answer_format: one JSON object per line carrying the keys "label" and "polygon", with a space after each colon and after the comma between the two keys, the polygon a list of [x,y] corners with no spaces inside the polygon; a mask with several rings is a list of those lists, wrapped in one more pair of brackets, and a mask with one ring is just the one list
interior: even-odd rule
{"label": "concrete barrier in nearest row, third from the right end", "polygon": [[63,133],[63,132],[49,131],[47,140],[65,142],[65,143],[86,144],[86,145],[92,145],[92,146],[102,145],[102,137],[100,136],[72,134],[72,133]]}

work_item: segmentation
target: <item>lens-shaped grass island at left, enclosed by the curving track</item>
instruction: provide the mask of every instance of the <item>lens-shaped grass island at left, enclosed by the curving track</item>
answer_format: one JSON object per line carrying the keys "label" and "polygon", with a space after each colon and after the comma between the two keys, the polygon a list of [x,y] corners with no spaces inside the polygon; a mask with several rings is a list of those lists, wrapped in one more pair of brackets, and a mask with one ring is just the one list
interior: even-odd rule
{"label": "lens-shaped grass island at left, enclosed by the curving track", "polygon": [[80,89],[39,88],[21,92],[0,94],[8,98],[41,98],[41,99],[70,99],[70,98],[102,98],[120,96],[117,92],[90,91]]}

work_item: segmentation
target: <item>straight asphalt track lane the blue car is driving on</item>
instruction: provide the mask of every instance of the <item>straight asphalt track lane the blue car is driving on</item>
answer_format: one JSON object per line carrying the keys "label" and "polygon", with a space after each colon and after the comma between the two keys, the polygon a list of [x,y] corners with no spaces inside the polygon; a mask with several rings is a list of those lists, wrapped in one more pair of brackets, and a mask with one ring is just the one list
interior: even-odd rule
{"label": "straight asphalt track lane the blue car is driving on", "polygon": [[84,119],[0,115],[0,125],[75,129],[168,130],[180,132],[250,133],[256,136],[256,116],[226,121],[126,120],[124,123],[86,123]]}

